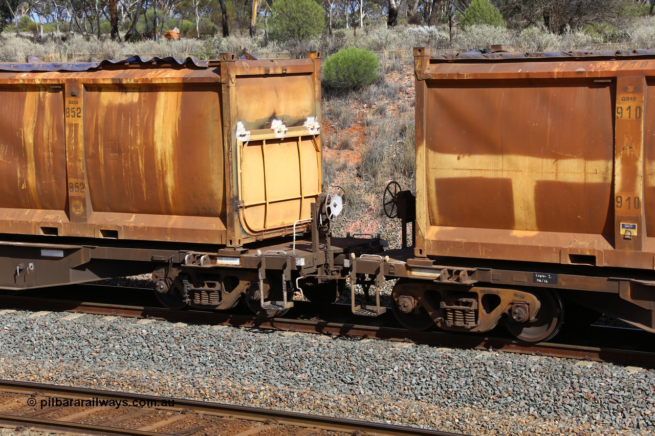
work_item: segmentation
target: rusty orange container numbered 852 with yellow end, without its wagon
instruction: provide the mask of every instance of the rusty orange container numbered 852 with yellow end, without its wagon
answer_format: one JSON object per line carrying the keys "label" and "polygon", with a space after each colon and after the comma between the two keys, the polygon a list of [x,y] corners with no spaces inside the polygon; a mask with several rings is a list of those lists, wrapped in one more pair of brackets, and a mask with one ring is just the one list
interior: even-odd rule
{"label": "rusty orange container numbered 852 with yellow end, without its wagon", "polygon": [[320,55],[0,65],[0,233],[237,247],[309,228]]}

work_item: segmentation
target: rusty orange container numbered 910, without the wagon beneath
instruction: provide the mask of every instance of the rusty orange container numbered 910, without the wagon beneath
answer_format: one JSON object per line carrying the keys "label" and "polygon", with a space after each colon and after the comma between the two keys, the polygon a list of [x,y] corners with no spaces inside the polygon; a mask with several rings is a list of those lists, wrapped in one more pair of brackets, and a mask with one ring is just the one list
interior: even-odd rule
{"label": "rusty orange container numbered 910, without the wagon beneath", "polygon": [[652,270],[655,52],[415,49],[417,255]]}

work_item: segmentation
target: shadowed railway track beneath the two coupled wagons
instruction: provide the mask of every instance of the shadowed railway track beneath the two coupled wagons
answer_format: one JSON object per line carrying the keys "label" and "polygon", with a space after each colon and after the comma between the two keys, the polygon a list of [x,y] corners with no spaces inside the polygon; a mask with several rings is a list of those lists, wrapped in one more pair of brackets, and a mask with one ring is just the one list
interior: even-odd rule
{"label": "shadowed railway track beneath the two coupled wagons", "polygon": [[[93,286],[96,287],[97,285]],[[107,287],[96,287],[96,289],[102,288]],[[115,289],[115,287],[109,288]],[[118,289],[126,291],[124,287],[118,287]],[[136,293],[134,288],[128,289],[128,292],[132,296]],[[106,292],[102,294],[107,295]],[[41,293],[41,295],[46,294]],[[146,297],[138,301],[147,302],[147,300]],[[526,344],[501,336],[453,334],[441,331],[415,332],[398,327],[388,327],[387,325],[360,325],[357,321],[361,321],[362,318],[354,318],[349,315],[350,306],[343,305],[335,305],[338,307],[331,310],[330,317],[320,316],[312,319],[257,318],[252,315],[215,311],[170,310],[145,304],[127,306],[106,302],[89,302],[81,299],[50,299],[39,296],[39,293],[35,297],[0,295],[0,306],[35,311],[76,312],[128,318],[161,319],[184,323],[220,324],[232,327],[256,327],[280,331],[319,333],[330,336],[375,338],[451,348],[496,350],[648,368],[655,367],[655,346],[651,345],[651,335],[638,329],[589,326],[586,329],[576,329],[574,335],[557,336],[556,339],[559,339],[560,343]],[[329,320],[326,320],[326,318],[329,318]],[[390,323],[393,323],[393,321]]]}

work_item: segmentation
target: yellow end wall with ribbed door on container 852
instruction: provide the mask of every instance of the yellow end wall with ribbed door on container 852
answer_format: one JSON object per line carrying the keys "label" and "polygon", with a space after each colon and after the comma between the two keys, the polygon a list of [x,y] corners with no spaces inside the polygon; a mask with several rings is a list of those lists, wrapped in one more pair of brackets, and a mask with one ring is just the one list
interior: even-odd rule
{"label": "yellow end wall with ribbed door on container 852", "polygon": [[[304,130],[309,120],[320,120],[320,94],[314,69],[308,71],[236,80],[236,120],[250,132],[248,141],[237,141],[241,224],[248,234],[310,219],[320,194],[320,136]],[[288,132],[276,132],[278,124]]]}

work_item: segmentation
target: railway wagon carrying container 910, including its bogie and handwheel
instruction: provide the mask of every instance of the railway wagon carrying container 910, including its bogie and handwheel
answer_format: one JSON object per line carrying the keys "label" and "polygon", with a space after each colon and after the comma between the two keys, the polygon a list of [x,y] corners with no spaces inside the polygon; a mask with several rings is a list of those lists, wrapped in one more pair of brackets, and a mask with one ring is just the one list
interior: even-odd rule
{"label": "railway wagon carrying container 910, including its bogie and handwheel", "polygon": [[414,55],[414,253],[356,264],[402,279],[400,321],[655,331],[655,51]]}

